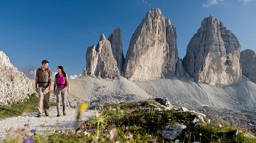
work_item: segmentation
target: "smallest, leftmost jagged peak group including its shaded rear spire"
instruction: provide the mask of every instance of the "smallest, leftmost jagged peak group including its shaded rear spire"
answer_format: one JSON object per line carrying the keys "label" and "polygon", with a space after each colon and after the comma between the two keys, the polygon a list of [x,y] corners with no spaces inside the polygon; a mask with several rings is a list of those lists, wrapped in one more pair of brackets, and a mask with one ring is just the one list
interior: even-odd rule
{"label": "smallest, leftmost jagged peak group including its shaded rear spire", "polygon": [[101,78],[119,78],[123,63],[123,45],[120,28],[105,38],[102,33],[99,42],[87,48],[86,69],[82,75],[97,76]]}

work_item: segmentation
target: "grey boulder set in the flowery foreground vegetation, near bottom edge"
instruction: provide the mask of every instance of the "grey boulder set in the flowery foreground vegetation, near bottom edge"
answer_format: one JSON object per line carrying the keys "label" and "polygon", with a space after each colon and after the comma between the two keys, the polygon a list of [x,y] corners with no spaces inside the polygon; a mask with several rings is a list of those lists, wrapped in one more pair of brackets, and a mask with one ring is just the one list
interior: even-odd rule
{"label": "grey boulder set in the flowery foreground vegetation, near bottom edge", "polygon": [[177,137],[179,137],[182,133],[182,131],[187,128],[186,125],[166,125],[165,127],[163,127],[163,130],[160,131],[160,135],[163,136],[163,138],[165,139],[176,139]]}

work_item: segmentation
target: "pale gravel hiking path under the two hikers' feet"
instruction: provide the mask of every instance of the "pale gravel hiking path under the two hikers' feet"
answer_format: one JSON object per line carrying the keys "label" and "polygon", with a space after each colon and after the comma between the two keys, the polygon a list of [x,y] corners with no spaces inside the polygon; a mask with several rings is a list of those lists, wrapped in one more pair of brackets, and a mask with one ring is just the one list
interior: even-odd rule
{"label": "pale gravel hiking path under the two hikers' feet", "polygon": [[[95,115],[95,110],[86,110],[82,113],[78,124]],[[37,118],[37,113],[29,113],[26,116],[17,116],[0,121],[0,142],[4,138],[15,135],[18,129],[36,130],[37,133],[54,132],[58,130],[74,130],[77,118],[77,108],[66,108],[66,116],[56,117],[56,107],[50,109],[50,115]]]}

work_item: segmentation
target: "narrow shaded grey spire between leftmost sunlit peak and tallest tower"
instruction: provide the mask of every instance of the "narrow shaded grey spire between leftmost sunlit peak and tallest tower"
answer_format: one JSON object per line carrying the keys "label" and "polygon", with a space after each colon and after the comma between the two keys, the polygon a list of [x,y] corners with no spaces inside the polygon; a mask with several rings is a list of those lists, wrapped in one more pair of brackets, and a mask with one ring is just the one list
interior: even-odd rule
{"label": "narrow shaded grey spire between leftmost sunlit peak and tallest tower", "polygon": [[113,30],[113,33],[108,37],[108,41],[110,41],[112,53],[117,62],[119,73],[121,74],[123,70],[123,64],[124,64],[124,53],[123,53],[121,29],[116,28],[115,30]]}

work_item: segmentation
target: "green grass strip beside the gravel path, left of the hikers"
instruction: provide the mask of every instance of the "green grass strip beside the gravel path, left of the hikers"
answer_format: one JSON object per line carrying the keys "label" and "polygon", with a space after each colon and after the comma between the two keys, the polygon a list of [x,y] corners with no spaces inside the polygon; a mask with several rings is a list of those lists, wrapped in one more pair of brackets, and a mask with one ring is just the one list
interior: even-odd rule
{"label": "green grass strip beside the gravel path, left of the hikers", "polygon": [[[30,112],[37,112],[38,97],[34,94],[28,95],[29,98],[24,102],[18,102],[16,104],[1,105],[0,106],[0,119],[10,118],[14,116],[25,115]],[[50,102],[50,107],[56,106],[55,102]]]}

